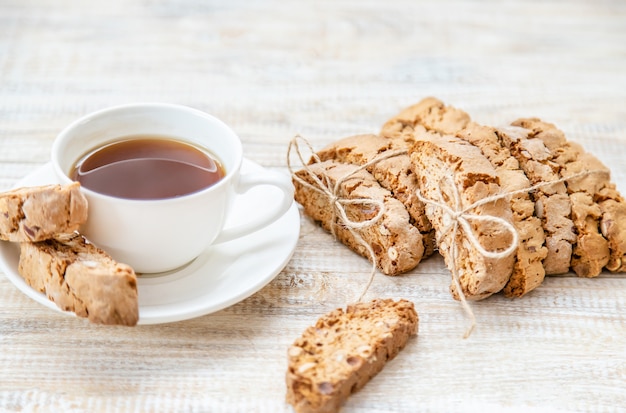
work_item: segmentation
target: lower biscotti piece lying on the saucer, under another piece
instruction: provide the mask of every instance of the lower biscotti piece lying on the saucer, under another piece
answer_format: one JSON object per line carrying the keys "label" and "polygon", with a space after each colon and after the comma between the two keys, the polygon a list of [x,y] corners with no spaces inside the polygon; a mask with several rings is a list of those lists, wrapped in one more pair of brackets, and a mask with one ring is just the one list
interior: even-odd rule
{"label": "lower biscotti piece lying on the saucer, under another piece", "polygon": [[20,275],[61,310],[98,324],[137,324],[137,278],[129,266],[79,234],[20,246]]}

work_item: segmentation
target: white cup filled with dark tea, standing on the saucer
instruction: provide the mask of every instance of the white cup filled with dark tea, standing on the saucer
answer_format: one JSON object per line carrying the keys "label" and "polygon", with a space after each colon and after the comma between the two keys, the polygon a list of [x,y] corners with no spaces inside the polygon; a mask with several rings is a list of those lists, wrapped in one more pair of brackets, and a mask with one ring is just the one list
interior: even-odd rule
{"label": "white cup filled with dark tea, standing on the saucer", "polygon": [[[242,162],[241,141],[225,123],[164,103],[89,114],[52,145],[57,180],[80,182],[89,203],[81,233],[138,273],[181,267],[289,209],[290,179],[269,170],[242,174]],[[259,185],[276,193],[273,209],[224,228],[237,195]]]}

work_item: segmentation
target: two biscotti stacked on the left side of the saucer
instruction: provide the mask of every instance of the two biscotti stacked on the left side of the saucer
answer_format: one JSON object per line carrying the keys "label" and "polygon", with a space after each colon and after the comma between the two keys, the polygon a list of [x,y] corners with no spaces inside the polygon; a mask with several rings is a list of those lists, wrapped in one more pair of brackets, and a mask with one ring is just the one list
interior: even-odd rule
{"label": "two biscotti stacked on the left side of the saucer", "polygon": [[87,213],[78,183],[4,192],[0,239],[20,244],[19,274],[60,309],[93,323],[136,325],[135,272],[77,232]]}

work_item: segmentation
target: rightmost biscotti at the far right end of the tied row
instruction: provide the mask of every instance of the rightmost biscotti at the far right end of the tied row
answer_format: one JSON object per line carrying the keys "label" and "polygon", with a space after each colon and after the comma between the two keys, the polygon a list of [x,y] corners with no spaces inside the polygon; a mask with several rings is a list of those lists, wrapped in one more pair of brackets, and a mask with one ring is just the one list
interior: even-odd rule
{"label": "rightmost biscotti at the far right end of the tied row", "polygon": [[593,172],[566,181],[578,233],[572,269],[583,277],[597,276],[605,266],[610,271],[626,271],[626,202],[610,181],[609,169],[551,123],[530,118],[513,125],[524,128],[529,139],[543,142],[551,160],[560,166],[562,178]]}

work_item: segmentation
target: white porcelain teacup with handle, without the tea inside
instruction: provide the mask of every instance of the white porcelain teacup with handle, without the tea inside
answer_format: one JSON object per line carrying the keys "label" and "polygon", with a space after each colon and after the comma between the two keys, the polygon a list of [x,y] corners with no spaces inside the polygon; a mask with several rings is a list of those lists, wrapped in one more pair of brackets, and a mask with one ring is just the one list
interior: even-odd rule
{"label": "white porcelain teacup with handle, without the tea inside", "polygon": [[[212,186],[187,195],[134,200],[81,190],[89,215],[81,228],[91,242],[138,273],[159,273],[192,261],[211,244],[257,231],[280,218],[292,205],[293,186],[287,176],[263,170],[241,174],[241,141],[222,121],[185,106],[137,103],[87,115],[58,135],[52,146],[52,164],[60,183],[70,183],[70,172],[86,153],[133,135],[160,135],[203,148],[222,164],[225,176]],[[231,228],[224,223],[237,194],[258,185],[278,191],[273,210],[246,217]]]}

